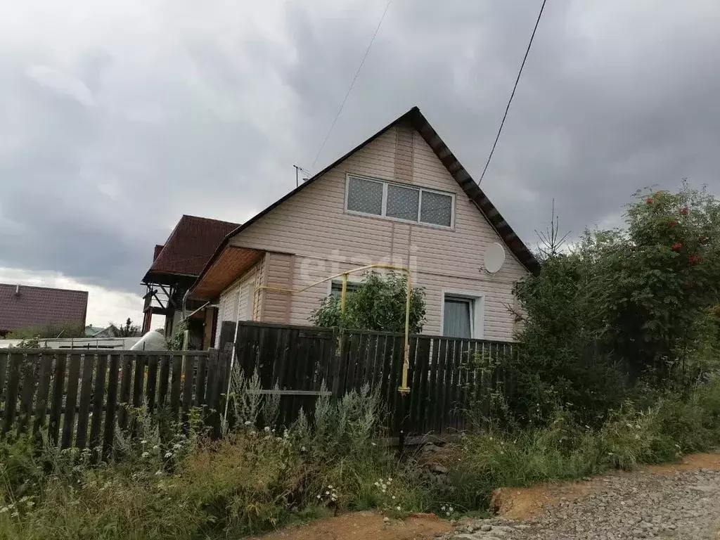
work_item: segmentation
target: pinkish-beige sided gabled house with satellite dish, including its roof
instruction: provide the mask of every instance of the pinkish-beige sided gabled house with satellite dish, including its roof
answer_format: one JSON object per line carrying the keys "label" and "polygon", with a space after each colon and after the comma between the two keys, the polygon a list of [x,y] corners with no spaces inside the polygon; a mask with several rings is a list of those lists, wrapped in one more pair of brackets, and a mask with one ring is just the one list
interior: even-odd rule
{"label": "pinkish-beige sided gabled house with satellite dish, including its roof", "polygon": [[[495,274],[483,267],[492,243],[507,255]],[[236,228],[189,297],[219,301],[220,321],[307,324],[339,281],[262,287],[381,263],[409,266],[425,289],[423,333],[508,341],[513,285],[538,268],[417,107]]]}

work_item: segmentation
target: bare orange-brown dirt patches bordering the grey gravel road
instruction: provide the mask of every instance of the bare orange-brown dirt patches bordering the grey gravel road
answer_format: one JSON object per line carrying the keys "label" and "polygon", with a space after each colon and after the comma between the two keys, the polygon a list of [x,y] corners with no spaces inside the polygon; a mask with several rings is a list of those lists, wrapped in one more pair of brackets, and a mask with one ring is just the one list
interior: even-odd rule
{"label": "bare orange-brown dirt patches bordering the grey gravel road", "polygon": [[[678,464],[653,465],[642,471],[651,474],[673,474],[698,469],[720,470],[720,454],[693,454]],[[634,474],[612,472],[611,475]],[[603,477],[577,482],[552,482],[532,487],[501,487],[493,494],[498,516],[523,520],[536,516],[543,508],[575,500],[599,490]],[[404,521],[374,512],[348,513],[336,518],[321,519],[305,525],[292,526],[263,536],[263,540],[427,540],[451,530],[448,521],[433,514],[413,514]]]}

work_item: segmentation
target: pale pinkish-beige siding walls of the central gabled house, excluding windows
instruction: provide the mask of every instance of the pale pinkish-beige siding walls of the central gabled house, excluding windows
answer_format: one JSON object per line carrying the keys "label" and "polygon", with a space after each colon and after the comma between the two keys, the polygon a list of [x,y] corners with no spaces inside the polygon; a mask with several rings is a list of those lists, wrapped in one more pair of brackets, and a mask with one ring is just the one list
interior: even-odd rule
{"label": "pale pinkish-beige siding walls of the central gabled house, excluding windows", "polygon": [[[348,173],[454,193],[454,229],[346,213]],[[513,305],[513,284],[526,271],[508,251],[498,274],[485,273],[482,253],[492,242],[502,243],[425,140],[407,127],[388,130],[231,240],[236,246],[276,252],[261,262],[256,285],[282,282],[297,289],[364,264],[410,266],[415,285],[426,289],[426,333],[441,333],[442,294],[454,289],[484,298],[485,338],[509,340],[514,318],[505,306]],[[257,318],[279,320],[287,306],[285,320],[305,324],[328,291],[325,283],[272,300],[262,292]]]}

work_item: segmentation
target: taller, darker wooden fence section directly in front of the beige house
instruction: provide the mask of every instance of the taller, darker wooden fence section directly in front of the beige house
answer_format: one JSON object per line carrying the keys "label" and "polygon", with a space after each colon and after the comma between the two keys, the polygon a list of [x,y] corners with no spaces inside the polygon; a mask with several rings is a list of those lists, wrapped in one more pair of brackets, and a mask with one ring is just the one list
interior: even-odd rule
{"label": "taller, darker wooden fence section directly in front of the beige house", "polygon": [[409,395],[401,395],[404,335],[269,323],[223,323],[221,341],[235,339],[236,361],[257,370],[261,387],[281,392],[282,423],[302,407],[312,413],[323,382],[335,397],[369,384],[387,410],[390,433],[456,433],[467,409],[488,413],[492,392],[511,395],[503,366],[516,353],[501,341],[410,337]]}

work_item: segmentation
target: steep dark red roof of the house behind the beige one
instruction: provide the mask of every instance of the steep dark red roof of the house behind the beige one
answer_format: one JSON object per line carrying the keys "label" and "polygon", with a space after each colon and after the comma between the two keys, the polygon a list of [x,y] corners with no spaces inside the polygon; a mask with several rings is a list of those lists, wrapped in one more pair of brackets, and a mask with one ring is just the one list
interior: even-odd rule
{"label": "steep dark red roof of the house behind the beige one", "polygon": [[166,243],[155,247],[155,257],[148,274],[198,276],[222,238],[238,226],[228,221],[183,215]]}

